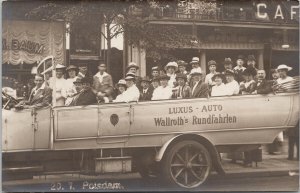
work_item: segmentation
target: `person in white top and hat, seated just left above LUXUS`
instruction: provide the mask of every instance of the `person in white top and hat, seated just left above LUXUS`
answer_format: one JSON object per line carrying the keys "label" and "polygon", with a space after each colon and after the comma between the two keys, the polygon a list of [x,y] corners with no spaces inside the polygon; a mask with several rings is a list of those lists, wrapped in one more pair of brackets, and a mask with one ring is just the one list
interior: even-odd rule
{"label": "person in white top and hat, seated just left above LUXUS", "polygon": [[167,75],[162,75],[159,77],[160,86],[153,91],[151,100],[163,100],[172,98],[172,88],[168,86],[168,81],[170,77]]}

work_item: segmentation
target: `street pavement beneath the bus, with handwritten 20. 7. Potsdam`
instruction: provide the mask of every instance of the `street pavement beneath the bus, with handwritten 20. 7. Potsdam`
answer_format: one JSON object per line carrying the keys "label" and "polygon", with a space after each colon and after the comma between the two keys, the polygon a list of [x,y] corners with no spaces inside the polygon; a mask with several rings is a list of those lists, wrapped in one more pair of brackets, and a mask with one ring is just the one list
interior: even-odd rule
{"label": "street pavement beneath the bus, with handwritten 20. 7. Potsdam", "polygon": [[[296,155],[296,154],[295,154]],[[263,161],[245,167],[242,161],[231,163],[222,158],[225,176],[212,172],[197,191],[298,191],[299,161],[287,160],[287,140],[281,151],[269,155],[263,147]],[[105,191],[111,183],[114,191],[178,190],[161,184],[157,179],[144,181],[137,173],[85,176],[79,174],[35,176],[33,180],[3,182],[2,189],[11,191]]]}

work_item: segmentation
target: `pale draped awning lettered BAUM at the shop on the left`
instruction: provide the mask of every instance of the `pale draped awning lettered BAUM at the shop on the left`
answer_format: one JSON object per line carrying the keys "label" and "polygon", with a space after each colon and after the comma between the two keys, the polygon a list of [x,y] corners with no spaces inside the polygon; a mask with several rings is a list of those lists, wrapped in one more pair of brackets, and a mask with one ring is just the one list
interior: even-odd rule
{"label": "pale draped awning lettered BAUM at the shop on the left", "polygon": [[65,61],[63,22],[4,20],[2,63],[33,64],[49,55]]}

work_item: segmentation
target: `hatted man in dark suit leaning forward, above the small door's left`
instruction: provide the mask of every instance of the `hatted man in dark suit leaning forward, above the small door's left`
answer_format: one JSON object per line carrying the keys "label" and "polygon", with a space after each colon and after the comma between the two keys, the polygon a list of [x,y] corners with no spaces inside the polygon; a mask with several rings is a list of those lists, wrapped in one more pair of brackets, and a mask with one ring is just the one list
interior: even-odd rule
{"label": "hatted man in dark suit leaning forward, above the small door's left", "polygon": [[79,91],[69,106],[81,106],[96,104],[96,95],[91,88],[92,79],[90,77],[78,78],[74,81],[76,90]]}

